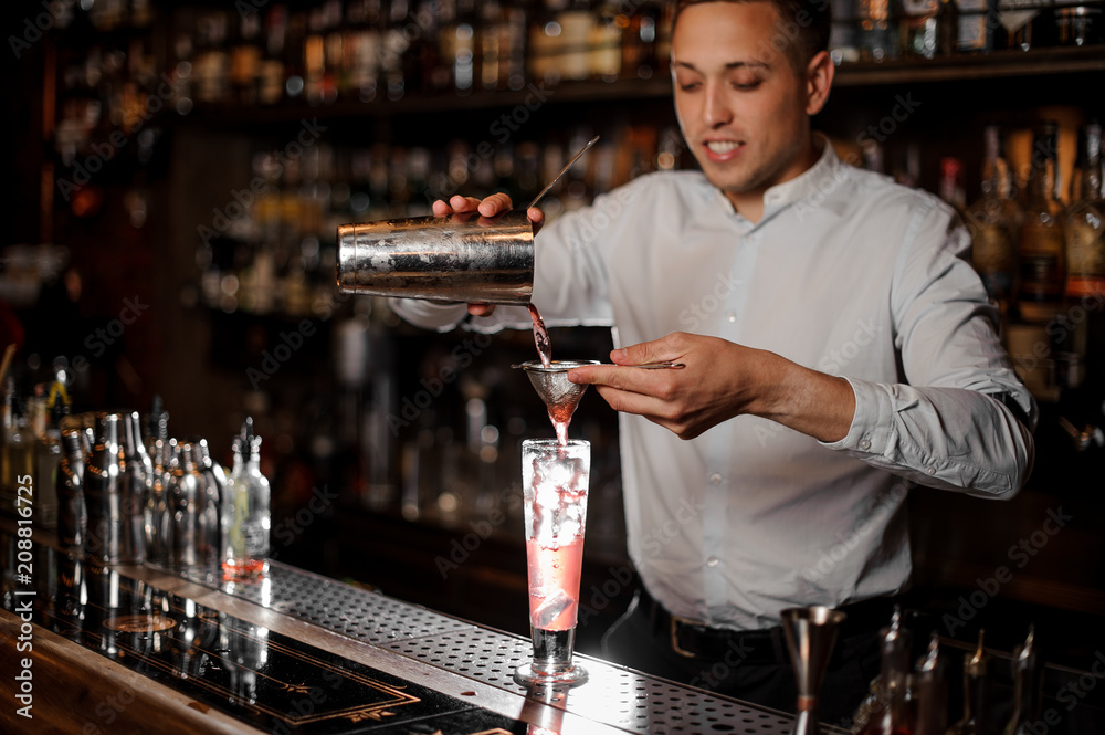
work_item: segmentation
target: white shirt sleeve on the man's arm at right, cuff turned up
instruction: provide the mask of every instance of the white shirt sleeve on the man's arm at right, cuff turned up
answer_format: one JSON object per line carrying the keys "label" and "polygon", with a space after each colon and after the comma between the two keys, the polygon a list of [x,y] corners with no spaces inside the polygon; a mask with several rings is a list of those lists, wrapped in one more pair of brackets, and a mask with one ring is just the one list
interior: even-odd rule
{"label": "white shirt sleeve on the man's arm at right, cuff turned up", "polygon": [[922,485],[1012,497],[1032,470],[1036,405],[966,260],[969,235],[934,206],[915,214],[906,237],[891,304],[905,380],[848,378],[851,427],[824,445]]}

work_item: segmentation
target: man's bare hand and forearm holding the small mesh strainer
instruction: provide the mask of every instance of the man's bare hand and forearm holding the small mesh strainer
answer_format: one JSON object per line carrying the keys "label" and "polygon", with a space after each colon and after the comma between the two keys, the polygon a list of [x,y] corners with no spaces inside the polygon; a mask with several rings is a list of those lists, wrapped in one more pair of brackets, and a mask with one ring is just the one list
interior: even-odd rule
{"label": "man's bare hand and forearm holding the small mesh strainer", "polygon": [[686,367],[640,370],[589,366],[568,379],[596,386],[615,411],[636,413],[694,439],[735,416],[777,421],[821,441],[848,434],[855,397],[843,378],[810,370],[774,353],[717,337],[676,332],[610,353],[617,365],[674,361]]}

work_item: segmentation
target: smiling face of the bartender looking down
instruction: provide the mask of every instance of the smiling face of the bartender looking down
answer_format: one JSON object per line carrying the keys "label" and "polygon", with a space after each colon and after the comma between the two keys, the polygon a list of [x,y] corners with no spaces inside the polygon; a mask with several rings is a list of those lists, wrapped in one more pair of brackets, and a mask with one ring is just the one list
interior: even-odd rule
{"label": "smiling face of the bartender looking down", "polygon": [[809,165],[808,84],[772,46],[778,24],[766,1],[707,2],[683,10],[672,39],[683,135],[738,208]]}

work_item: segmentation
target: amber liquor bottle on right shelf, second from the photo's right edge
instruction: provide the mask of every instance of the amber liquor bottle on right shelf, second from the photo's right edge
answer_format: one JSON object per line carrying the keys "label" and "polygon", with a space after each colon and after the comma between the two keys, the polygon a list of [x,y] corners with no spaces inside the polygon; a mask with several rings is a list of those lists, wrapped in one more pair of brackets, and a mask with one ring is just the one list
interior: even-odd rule
{"label": "amber liquor bottle on right shelf, second from the photo's right edge", "polygon": [[1065,287],[1063,207],[1055,198],[1057,136],[1059,125],[1052,122],[1034,135],[1021,225],[1020,314],[1034,324],[1045,324],[1062,309]]}

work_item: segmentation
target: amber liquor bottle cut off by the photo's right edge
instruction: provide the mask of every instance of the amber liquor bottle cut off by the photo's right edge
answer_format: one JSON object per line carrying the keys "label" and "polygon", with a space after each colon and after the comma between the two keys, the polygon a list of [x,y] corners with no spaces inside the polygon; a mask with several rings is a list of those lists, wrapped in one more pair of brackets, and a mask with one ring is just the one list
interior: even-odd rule
{"label": "amber liquor bottle cut off by the photo's right edge", "polygon": [[1105,296],[1105,199],[1102,197],[1102,127],[1082,128],[1077,166],[1082,169],[1076,201],[1065,214],[1066,298]]}

